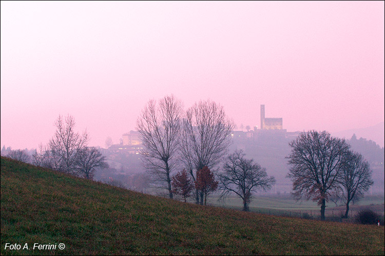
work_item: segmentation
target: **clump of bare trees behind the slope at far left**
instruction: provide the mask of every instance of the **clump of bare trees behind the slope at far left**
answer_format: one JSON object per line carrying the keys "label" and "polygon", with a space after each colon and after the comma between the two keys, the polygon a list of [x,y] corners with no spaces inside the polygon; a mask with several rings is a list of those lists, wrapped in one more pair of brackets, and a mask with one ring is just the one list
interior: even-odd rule
{"label": "clump of bare trees behind the slope at far left", "polygon": [[56,131],[47,146],[39,145],[32,155],[32,164],[91,179],[95,168],[107,168],[106,158],[95,147],[88,147],[89,135],[74,131],[71,115],[61,115],[54,123]]}

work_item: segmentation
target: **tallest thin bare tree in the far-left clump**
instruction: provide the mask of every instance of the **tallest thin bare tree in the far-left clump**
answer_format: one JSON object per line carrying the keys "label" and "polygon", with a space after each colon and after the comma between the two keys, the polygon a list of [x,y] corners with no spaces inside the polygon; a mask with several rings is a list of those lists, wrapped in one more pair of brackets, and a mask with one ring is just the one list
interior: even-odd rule
{"label": "tallest thin bare tree in the far-left clump", "polygon": [[[60,159],[63,172],[72,174],[75,172],[75,160],[82,148],[87,146],[88,134],[85,131],[82,135],[74,132],[75,120],[68,115],[55,121],[56,132],[49,141],[49,148],[55,159]],[[57,164],[56,164],[57,165]],[[59,165],[57,165],[59,166]]]}

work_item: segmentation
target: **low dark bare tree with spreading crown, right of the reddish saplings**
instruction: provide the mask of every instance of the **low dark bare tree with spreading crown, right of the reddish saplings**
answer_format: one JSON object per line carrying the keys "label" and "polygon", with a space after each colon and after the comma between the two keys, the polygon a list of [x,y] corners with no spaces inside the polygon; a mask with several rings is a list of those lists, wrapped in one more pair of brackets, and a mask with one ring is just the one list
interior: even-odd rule
{"label": "low dark bare tree with spreading crown, right of the reddish saplings", "polygon": [[253,159],[244,157],[241,150],[229,155],[223,165],[223,172],[218,176],[221,197],[230,193],[237,194],[243,200],[243,210],[248,211],[252,193],[258,189],[270,189],[275,184],[275,178],[268,177],[266,169],[254,163]]}

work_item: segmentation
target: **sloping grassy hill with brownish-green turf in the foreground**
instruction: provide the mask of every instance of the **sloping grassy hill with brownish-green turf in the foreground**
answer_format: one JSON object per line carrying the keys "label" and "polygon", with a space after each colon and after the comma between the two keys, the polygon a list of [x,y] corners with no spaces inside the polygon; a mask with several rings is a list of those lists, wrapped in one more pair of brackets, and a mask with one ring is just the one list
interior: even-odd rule
{"label": "sloping grassy hill with brownish-green turf in the foreground", "polygon": [[384,227],[182,203],[1,157],[1,254],[384,255]]}

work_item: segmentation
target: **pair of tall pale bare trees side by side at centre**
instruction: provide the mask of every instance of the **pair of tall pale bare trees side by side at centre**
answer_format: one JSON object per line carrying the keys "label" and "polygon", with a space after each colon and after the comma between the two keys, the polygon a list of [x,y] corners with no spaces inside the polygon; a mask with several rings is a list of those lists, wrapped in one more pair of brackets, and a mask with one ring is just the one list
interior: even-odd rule
{"label": "pair of tall pale bare trees side by side at centre", "polygon": [[[213,101],[200,101],[184,112],[172,95],[158,103],[150,100],[137,120],[143,163],[172,198],[171,172],[183,167],[196,183],[198,170],[215,166],[227,153],[233,126]],[[196,202],[203,204],[203,197],[204,191],[196,188]]]}

